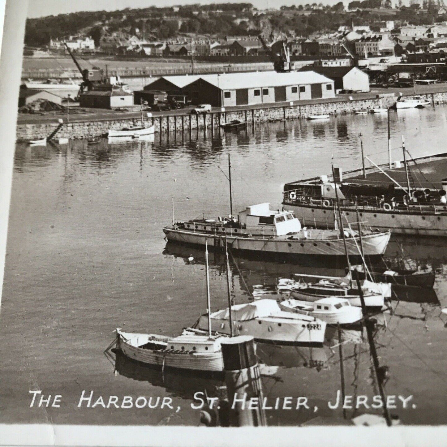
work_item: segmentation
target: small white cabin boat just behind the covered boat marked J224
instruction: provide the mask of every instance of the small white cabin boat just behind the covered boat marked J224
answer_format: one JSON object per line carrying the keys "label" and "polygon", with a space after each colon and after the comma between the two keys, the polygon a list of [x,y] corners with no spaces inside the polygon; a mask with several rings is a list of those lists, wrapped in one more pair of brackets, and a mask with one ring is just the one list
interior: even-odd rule
{"label": "small white cabin boat just behind the covered boat marked J224", "polygon": [[288,298],[281,301],[279,307],[286,312],[314,316],[328,324],[349,325],[362,318],[361,308],[351,306],[347,299],[333,296],[317,299],[312,303]]}

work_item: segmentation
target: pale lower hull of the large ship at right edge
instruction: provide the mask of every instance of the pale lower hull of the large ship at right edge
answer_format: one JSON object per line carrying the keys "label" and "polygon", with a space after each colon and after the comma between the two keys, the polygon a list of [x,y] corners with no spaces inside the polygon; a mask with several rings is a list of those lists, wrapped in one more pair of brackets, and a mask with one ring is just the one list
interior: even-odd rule
{"label": "pale lower hull of the large ship at right edge", "polygon": [[[334,209],[309,205],[291,205],[284,203],[288,210],[294,211],[304,226],[316,228],[334,228]],[[355,211],[342,208],[346,218],[357,226]],[[368,227],[379,230],[391,230],[392,233],[415,236],[447,236],[446,214],[416,214],[402,211],[385,211],[359,208],[359,217]]]}

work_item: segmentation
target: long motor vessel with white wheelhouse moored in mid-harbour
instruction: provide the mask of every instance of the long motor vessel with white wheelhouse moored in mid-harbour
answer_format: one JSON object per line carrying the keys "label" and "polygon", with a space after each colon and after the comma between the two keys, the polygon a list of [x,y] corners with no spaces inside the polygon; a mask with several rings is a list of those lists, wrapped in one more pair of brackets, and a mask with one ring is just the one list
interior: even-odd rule
{"label": "long motor vessel with white wheelhouse moored in mid-harbour", "polygon": [[[301,228],[291,211],[270,210],[269,203],[260,203],[240,211],[235,217],[192,219],[177,221],[163,228],[168,241],[182,244],[205,245],[213,241],[215,249],[228,241],[231,249],[254,253],[295,256],[346,256],[343,238],[337,230]],[[363,249],[367,256],[385,252],[391,233],[362,231]],[[357,232],[345,231],[349,256],[358,257]]]}

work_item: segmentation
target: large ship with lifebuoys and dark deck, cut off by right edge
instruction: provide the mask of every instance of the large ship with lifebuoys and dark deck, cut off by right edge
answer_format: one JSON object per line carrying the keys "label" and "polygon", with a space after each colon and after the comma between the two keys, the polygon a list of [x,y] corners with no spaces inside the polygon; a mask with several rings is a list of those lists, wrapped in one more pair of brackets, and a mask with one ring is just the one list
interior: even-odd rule
{"label": "large ship with lifebuoys and dark deck, cut off by right edge", "polygon": [[[396,234],[447,236],[447,154],[396,162],[332,176],[286,183],[283,205],[303,225],[334,228],[337,195],[342,215],[356,227],[358,218],[371,228]],[[336,191],[337,189],[337,191]],[[358,216],[357,216],[358,211]]]}

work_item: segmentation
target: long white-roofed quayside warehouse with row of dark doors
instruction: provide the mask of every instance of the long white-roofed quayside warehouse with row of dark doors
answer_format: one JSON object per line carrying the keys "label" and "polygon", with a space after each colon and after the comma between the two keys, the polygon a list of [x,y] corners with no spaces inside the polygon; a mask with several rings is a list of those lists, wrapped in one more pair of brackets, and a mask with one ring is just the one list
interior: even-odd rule
{"label": "long white-roofed quayside warehouse with row of dark doors", "polygon": [[188,95],[193,104],[211,104],[217,107],[335,96],[333,80],[315,72],[204,75],[185,84],[182,92]]}

